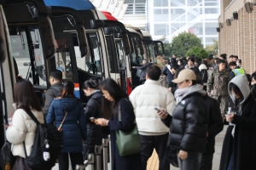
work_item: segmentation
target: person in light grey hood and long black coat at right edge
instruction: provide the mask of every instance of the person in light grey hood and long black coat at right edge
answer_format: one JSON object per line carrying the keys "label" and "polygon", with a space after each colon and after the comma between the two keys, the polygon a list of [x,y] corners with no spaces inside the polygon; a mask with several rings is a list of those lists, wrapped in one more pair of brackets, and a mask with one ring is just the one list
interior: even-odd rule
{"label": "person in light grey hood and long black coat at right edge", "polygon": [[[229,122],[221,154],[220,170],[256,169],[256,103],[250,94],[245,75],[229,83],[233,108],[226,116]],[[250,151],[252,150],[252,151]]]}

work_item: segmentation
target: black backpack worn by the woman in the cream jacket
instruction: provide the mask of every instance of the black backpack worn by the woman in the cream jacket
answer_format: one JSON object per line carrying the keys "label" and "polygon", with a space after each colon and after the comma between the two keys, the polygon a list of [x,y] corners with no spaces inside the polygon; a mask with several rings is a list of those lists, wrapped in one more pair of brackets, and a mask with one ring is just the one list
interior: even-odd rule
{"label": "black backpack worn by the woman in the cream jacket", "polygon": [[32,145],[30,156],[26,154],[25,141],[23,142],[26,154],[26,164],[28,167],[37,170],[51,169],[55,166],[59,154],[61,153],[62,133],[57,130],[54,125],[41,124],[38,119],[32,114],[32,111],[26,109],[34,122],[37,123],[36,136]]}

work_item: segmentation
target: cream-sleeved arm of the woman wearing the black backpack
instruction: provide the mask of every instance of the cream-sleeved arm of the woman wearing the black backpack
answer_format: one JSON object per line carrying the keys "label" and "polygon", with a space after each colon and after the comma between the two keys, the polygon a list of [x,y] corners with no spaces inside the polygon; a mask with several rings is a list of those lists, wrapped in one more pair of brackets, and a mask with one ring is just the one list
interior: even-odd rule
{"label": "cream-sleeved arm of the woman wearing the black backpack", "polygon": [[12,120],[13,125],[9,126],[6,131],[6,139],[12,144],[19,144],[23,142],[26,138],[26,120],[24,116],[20,113],[21,111],[24,110],[18,109],[15,111]]}

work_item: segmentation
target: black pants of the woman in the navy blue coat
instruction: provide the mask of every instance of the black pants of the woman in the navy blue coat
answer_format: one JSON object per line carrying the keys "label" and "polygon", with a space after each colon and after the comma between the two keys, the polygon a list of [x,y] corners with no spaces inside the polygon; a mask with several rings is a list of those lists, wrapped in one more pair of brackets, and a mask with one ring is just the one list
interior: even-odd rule
{"label": "black pants of the woman in the navy blue coat", "polygon": [[[71,164],[72,164],[72,169],[76,169],[76,165],[83,165],[83,155],[81,153],[69,153],[70,159],[71,159]],[[59,161],[59,169],[60,170],[68,170],[68,153],[62,153],[58,156],[58,161]]]}

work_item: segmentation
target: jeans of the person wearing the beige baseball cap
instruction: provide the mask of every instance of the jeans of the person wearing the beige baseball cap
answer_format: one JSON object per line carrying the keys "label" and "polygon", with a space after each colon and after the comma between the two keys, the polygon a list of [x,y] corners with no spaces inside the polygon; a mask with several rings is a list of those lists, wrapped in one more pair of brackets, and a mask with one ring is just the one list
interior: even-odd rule
{"label": "jeans of the person wearing the beige baseball cap", "polygon": [[[177,150],[178,154],[179,150]],[[199,170],[201,164],[201,152],[188,152],[188,157],[183,161],[177,157],[178,167],[180,170]]]}

